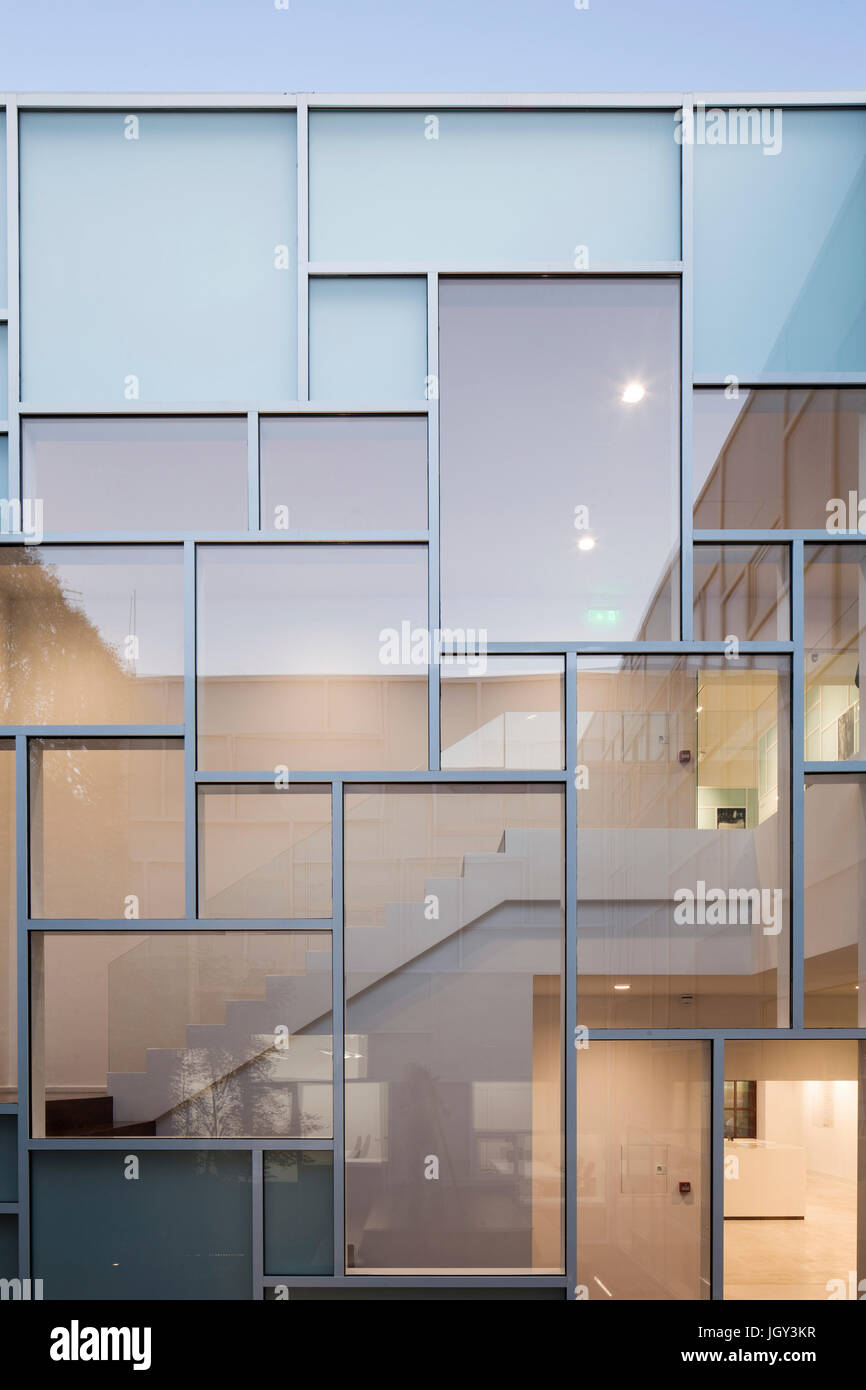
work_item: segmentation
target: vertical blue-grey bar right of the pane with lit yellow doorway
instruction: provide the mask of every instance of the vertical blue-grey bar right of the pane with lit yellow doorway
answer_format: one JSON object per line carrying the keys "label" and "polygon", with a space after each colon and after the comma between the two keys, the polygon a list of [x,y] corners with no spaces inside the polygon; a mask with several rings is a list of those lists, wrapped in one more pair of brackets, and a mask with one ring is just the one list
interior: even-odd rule
{"label": "vertical blue-grey bar right of the pane with lit yellow doorway", "polygon": [[791,662],[791,1026],[803,1027],[805,1019],[805,969],[806,969],[806,912],[805,912],[805,816],[806,777],[806,614],[803,595],[802,539],[791,545],[791,635],[794,653]]}

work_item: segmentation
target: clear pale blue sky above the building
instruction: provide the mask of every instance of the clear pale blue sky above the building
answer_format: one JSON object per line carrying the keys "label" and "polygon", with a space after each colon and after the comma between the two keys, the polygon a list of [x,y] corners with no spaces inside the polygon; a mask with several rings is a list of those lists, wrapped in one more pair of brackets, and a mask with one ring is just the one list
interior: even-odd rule
{"label": "clear pale blue sky above the building", "polygon": [[0,0],[0,89],[866,86],[865,0],[578,3],[588,8],[575,0]]}

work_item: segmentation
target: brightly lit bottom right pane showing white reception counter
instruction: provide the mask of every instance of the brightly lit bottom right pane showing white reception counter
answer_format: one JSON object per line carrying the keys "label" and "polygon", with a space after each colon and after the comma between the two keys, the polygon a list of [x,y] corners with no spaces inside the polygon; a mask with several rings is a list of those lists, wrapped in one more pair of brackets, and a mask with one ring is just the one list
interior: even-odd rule
{"label": "brightly lit bottom right pane showing white reception counter", "polygon": [[755,1091],[752,1137],[716,1140],[726,1300],[756,1308],[862,1295],[865,1063],[856,1040],[726,1040],[724,1074]]}

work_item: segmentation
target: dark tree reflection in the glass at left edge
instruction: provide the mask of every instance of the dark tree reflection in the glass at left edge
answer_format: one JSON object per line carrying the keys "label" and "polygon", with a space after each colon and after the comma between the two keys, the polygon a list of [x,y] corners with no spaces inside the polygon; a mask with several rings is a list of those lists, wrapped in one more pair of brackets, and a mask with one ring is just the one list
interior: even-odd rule
{"label": "dark tree reflection in the glass at left edge", "polygon": [[95,687],[107,702],[125,698],[133,670],[36,548],[3,550],[0,626],[3,723],[85,723]]}

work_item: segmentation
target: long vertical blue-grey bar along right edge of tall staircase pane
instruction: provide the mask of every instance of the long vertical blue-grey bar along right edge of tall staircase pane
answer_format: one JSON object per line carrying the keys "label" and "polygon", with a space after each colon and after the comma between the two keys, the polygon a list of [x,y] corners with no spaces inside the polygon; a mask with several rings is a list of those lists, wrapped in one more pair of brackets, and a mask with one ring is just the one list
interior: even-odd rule
{"label": "long vertical blue-grey bar along right edge of tall staircase pane", "polygon": [[564,1161],[566,1161],[566,1276],[569,1298],[577,1290],[577,655],[566,656],[566,949],[564,988]]}

